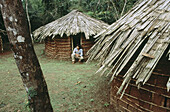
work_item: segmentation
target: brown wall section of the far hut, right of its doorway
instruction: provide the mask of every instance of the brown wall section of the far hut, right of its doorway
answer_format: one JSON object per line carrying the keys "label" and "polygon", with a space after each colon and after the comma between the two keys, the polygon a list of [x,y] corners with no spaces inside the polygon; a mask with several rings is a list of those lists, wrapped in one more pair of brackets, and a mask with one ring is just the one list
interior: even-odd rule
{"label": "brown wall section of the far hut, right of its doorway", "polygon": [[87,58],[87,51],[94,45],[93,39],[85,39],[85,37],[82,35],[82,48],[85,58]]}

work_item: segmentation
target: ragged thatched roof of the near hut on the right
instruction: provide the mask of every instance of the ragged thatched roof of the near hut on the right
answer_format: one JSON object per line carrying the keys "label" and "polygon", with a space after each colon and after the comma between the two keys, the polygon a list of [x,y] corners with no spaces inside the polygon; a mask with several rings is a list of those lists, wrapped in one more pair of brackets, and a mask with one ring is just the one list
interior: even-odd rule
{"label": "ragged thatched roof of the near hut on the right", "polygon": [[140,0],[96,37],[100,38],[89,51],[88,61],[100,60],[102,66],[98,72],[114,71],[111,81],[143,46],[124,75],[118,93],[126,89],[132,78],[137,80],[138,86],[145,84],[170,44],[170,1]]}

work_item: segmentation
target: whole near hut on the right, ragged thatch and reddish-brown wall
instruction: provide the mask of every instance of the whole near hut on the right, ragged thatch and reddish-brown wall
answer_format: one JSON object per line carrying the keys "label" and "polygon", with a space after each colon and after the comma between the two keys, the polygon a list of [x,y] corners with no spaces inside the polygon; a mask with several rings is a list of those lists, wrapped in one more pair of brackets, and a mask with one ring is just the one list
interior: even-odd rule
{"label": "whole near hut on the right, ragged thatch and reddish-brown wall", "polygon": [[140,0],[96,37],[88,61],[112,76],[116,110],[170,112],[170,0]]}

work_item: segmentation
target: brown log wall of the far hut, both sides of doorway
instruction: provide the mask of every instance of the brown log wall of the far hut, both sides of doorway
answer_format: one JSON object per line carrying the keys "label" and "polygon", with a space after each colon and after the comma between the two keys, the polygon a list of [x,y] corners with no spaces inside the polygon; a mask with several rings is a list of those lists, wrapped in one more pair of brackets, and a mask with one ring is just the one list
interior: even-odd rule
{"label": "brown log wall of the far hut, both sides of doorway", "polygon": [[[74,38],[74,37],[73,37]],[[83,53],[85,58],[87,58],[86,53],[87,51],[93,46],[94,40],[93,39],[85,39],[84,36],[82,38],[81,44],[83,47]],[[71,59],[72,53],[72,42],[71,37],[56,37],[51,39],[50,37],[45,40],[45,55],[50,58],[57,58],[57,59]]]}

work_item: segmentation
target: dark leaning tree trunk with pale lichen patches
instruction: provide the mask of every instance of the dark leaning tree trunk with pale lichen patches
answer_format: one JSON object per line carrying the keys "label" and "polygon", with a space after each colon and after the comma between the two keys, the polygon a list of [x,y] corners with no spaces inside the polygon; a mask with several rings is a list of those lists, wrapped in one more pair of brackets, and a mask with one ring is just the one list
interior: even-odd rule
{"label": "dark leaning tree trunk with pale lichen patches", "polygon": [[53,112],[21,0],[0,0],[0,8],[31,111]]}

